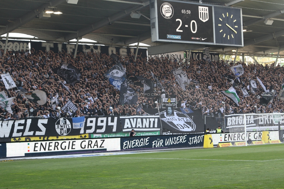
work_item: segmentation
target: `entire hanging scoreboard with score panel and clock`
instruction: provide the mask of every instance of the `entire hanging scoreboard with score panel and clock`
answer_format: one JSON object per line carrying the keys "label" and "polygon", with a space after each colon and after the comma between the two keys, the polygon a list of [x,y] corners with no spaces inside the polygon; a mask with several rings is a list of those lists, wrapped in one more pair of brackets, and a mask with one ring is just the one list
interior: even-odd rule
{"label": "entire hanging scoreboard with score panel and clock", "polygon": [[187,1],[150,1],[152,42],[243,47],[242,9]]}

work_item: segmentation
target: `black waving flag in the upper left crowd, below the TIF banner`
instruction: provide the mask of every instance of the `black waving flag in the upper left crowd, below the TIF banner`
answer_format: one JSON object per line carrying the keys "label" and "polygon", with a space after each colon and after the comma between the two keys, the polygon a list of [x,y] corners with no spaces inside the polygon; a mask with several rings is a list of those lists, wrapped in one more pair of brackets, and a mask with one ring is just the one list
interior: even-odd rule
{"label": "black waving flag in the upper left crowd, below the TIF banner", "polygon": [[66,83],[70,85],[74,85],[75,83],[80,81],[80,77],[82,76],[79,69],[72,66],[71,64],[62,64],[60,67],[52,69],[52,71],[59,75],[62,79],[66,81]]}

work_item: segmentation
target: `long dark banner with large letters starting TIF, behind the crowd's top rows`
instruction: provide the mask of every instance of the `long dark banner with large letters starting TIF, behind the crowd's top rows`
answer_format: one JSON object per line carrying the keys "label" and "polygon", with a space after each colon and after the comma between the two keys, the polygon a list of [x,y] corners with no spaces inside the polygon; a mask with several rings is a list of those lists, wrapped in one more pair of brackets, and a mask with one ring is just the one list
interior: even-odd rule
{"label": "long dark banner with large letters starting TIF, behind the crowd's top rows", "polygon": [[[4,42],[5,44],[5,42]],[[63,52],[74,54],[75,52],[75,44],[68,43],[52,43],[52,42],[33,42],[31,41],[31,48],[36,50],[45,51],[53,51],[54,53]],[[128,47],[111,47],[111,46],[101,46],[101,45],[82,45],[78,44],[78,52],[89,53],[93,52],[95,54],[106,54],[111,56],[111,54],[118,54],[118,56],[122,56],[123,58],[135,54],[136,48],[128,48]],[[147,49],[138,49],[138,55],[141,54],[141,57],[147,57]]]}

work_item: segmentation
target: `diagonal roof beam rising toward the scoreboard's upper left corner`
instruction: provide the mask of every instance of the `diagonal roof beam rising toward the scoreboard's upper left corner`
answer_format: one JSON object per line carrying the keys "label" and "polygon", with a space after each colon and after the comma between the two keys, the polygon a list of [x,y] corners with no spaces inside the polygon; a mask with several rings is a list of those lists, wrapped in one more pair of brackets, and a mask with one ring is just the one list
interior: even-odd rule
{"label": "diagonal roof beam rising toward the scoreboard's upper left corner", "polygon": [[[146,1],[144,2],[144,5],[145,6],[148,6],[149,5],[149,1]],[[82,28],[78,31],[78,34],[69,34],[67,36],[65,36],[64,40],[66,41],[69,41],[69,40],[72,40],[74,38],[77,38],[77,37],[82,37],[84,35],[87,35],[88,33],[92,32],[92,31],[95,31],[111,22],[115,22],[119,19],[122,19],[128,15],[131,14],[132,10],[140,10],[141,8],[143,8],[144,6],[143,5],[138,5],[138,6],[134,6],[132,8],[129,8],[125,11],[121,11],[119,13],[116,13],[114,15],[111,15],[110,17],[108,18],[104,18],[102,20],[100,20],[99,22],[96,22],[96,23],[93,23],[91,26],[87,26],[85,28]],[[59,38],[58,40],[63,40],[63,38]]]}

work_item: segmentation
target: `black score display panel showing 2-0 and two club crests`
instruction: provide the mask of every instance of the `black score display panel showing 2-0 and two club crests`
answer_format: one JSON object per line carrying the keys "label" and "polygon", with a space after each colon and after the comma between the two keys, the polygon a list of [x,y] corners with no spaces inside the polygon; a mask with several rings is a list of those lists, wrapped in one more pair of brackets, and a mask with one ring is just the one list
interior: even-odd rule
{"label": "black score display panel showing 2-0 and two club crests", "polygon": [[214,43],[212,6],[157,0],[159,39]]}

